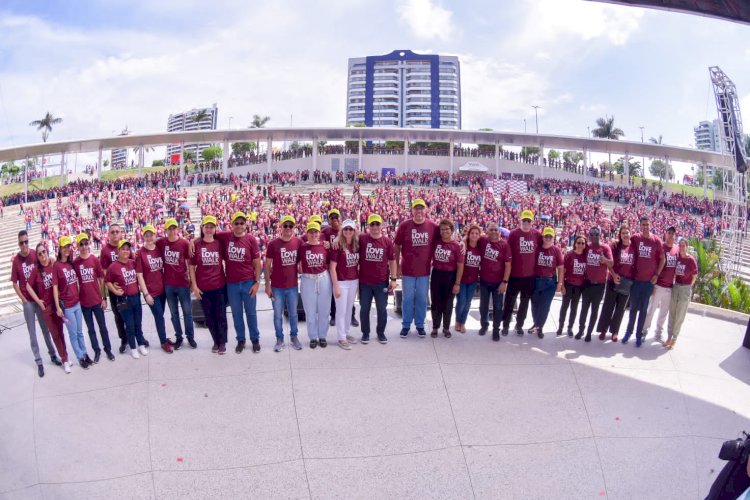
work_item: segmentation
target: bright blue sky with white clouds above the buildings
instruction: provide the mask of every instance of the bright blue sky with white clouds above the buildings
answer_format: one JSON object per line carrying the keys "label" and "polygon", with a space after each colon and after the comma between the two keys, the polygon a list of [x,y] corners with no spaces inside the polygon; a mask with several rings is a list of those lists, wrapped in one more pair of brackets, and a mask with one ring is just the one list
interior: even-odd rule
{"label": "bright blue sky with white clouds above the buildings", "polygon": [[[708,66],[750,104],[750,26],[582,0],[3,0],[0,146],[166,129],[218,103],[219,126],[343,126],[347,58],[457,55],[463,126],[693,143],[716,116]],[[750,111],[746,111],[750,112]]]}

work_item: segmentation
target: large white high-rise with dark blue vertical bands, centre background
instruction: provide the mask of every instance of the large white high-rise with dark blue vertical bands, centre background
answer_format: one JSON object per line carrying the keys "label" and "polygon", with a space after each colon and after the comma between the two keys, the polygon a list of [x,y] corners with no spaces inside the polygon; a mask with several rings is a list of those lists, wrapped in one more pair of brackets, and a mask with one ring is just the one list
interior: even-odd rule
{"label": "large white high-rise with dark blue vertical bands, centre background", "polygon": [[346,124],[461,128],[457,57],[395,50],[349,59]]}

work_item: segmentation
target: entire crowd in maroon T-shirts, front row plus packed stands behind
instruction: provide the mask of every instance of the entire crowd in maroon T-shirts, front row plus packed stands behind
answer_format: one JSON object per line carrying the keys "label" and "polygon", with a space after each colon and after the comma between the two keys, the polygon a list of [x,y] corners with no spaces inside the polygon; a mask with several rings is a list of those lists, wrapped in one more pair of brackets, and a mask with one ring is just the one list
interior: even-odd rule
{"label": "entire crowd in maroon T-shirts, front row plus packed stands behind", "polygon": [[[263,275],[274,307],[276,351],[286,347],[285,310],[290,345],[302,348],[298,297],[310,348],[326,347],[333,325],[342,349],[368,343],[373,301],[374,333],[386,343],[387,296],[398,282],[402,337],[410,335],[412,324],[419,337],[427,335],[428,295],[432,337],[451,337],[454,300],[453,331],[466,332],[478,289],[478,333],[489,331],[491,300],[493,340],[508,334],[519,296],[514,331],[525,333],[531,305],[528,333],[542,338],[551,301],[560,293],[557,335],[564,333],[567,320],[569,336],[590,341],[595,330],[601,340],[609,333],[617,341],[630,304],[622,341],[635,333],[640,346],[658,310],[656,336],[661,339],[669,318],[664,344],[671,348],[697,275],[684,237],[714,231],[721,210],[718,204],[682,195],[570,181],[537,180],[529,183],[526,194],[500,196],[493,196],[481,178],[469,179],[468,192],[461,195],[412,184],[385,184],[363,193],[355,184],[349,197],[341,187],[303,195],[275,183],[229,181],[198,193],[197,225],[189,217],[187,192],[174,187],[168,176],[121,181],[117,187],[125,189],[120,190],[111,184],[79,184],[66,190],[67,203],[57,197],[27,209],[42,224],[42,240],[32,251],[27,230],[19,233],[11,281],[23,302],[40,375],[36,323],[52,361],[66,372],[72,363],[63,325],[82,368],[98,363],[102,353],[114,359],[104,321],[108,308],[115,317],[120,353],[129,349],[134,358],[148,354],[144,301],[164,352],[180,349],[184,341],[196,348],[191,296],[203,307],[214,352],[227,350],[227,304],[235,352],[245,349],[245,328],[258,352],[256,297]],[[573,201],[564,204],[563,195]],[[604,199],[621,205],[607,214]],[[55,218],[57,227],[51,227]],[[99,258],[92,246],[100,249]],[[167,308],[174,339],[167,334]],[[352,325],[359,326],[359,335]]]}

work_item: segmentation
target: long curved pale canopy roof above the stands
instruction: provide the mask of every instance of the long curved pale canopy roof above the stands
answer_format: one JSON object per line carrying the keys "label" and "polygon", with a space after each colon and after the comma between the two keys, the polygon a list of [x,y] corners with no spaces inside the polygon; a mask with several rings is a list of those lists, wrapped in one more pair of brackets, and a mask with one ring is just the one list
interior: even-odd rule
{"label": "long curved pale canopy roof above the stands", "polygon": [[537,135],[517,132],[485,132],[476,130],[445,130],[419,128],[263,128],[242,130],[203,130],[191,132],[163,132],[142,135],[118,135],[95,139],[81,139],[62,142],[47,142],[0,148],[0,161],[21,160],[35,156],[60,153],[87,153],[135,146],[162,146],[166,144],[221,144],[224,141],[403,141],[409,142],[450,142],[463,144],[500,144],[502,146],[543,146],[560,150],[613,155],[647,156],[668,158],[687,163],[729,166],[731,158],[698,149],[666,146],[643,142],[615,141],[563,135]]}

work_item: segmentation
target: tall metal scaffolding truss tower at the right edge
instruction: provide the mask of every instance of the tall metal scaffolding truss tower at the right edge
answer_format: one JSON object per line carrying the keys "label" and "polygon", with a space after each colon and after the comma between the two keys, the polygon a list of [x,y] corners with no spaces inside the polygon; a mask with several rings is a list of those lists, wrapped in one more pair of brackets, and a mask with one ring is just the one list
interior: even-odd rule
{"label": "tall metal scaffolding truss tower at the right edge", "polygon": [[721,121],[721,148],[726,157],[731,158],[732,165],[721,169],[723,186],[716,193],[723,203],[722,225],[718,239],[721,245],[719,266],[730,279],[739,276],[742,261],[742,247],[745,232],[745,214],[747,207],[747,180],[736,165],[745,161],[744,133],[742,114],[740,113],[737,88],[732,80],[719,68],[708,68],[711,83],[716,96],[716,109]]}

